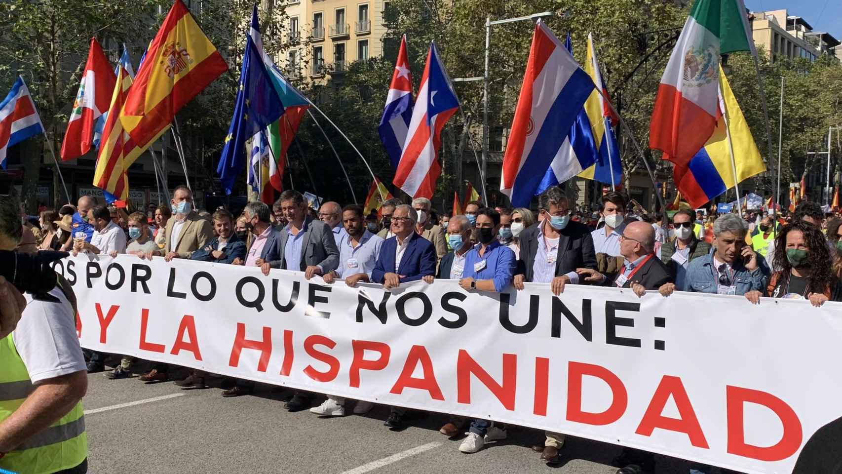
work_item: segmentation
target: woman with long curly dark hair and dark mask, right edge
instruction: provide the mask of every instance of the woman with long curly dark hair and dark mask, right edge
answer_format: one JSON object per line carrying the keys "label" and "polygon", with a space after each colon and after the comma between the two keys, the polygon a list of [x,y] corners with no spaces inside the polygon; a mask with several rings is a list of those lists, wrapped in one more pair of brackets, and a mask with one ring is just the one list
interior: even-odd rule
{"label": "woman with long curly dark hair and dark mask, right edge", "polygon": [[765,295],[749,291],[745,297],[759,303],[760,296],[810,300],[813,306],[842,300],[842,286],[833,273],[833,261],[818,227],[794,221],[775,237],[775,268]]}

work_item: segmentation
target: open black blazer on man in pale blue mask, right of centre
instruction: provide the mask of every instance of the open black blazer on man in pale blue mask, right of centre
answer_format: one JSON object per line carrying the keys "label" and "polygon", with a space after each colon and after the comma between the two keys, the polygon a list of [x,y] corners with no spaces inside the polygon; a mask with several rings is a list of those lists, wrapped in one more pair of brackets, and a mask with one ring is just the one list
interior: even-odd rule
{"label": "open black blazer on man in pale blue mask, right of centre", "polygon": [[[524,275],[526,281],[532,281],[532,267],[538,253],[538,230],[541,223],[529,226],[520,232],[520,259],[515,274]],[[561,230],[556,256],[556,276],[576,271],[576,269],[596,269],[594,237],[590,229],[581,222],[570,221]]]}

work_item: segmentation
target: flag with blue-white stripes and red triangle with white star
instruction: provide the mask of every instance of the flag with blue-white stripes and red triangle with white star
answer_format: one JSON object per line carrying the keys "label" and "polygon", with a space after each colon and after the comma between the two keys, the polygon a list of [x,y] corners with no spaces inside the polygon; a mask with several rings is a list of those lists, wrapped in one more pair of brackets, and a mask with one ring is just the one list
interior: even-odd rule
{"label": "flag with blue-white stripes and red triangle with white star", "polygon": [[397,163],[401,161],[403,143],[407,140],[407,130],[413,118],[413,81],[409,72],[407,55],[407,35],[403,35],[401,49],[397,53],[395,71],[392,72],[392,85],[386,96],[386,107],[377,131],[380,141],[386,147],[392,169],[397,170]]}

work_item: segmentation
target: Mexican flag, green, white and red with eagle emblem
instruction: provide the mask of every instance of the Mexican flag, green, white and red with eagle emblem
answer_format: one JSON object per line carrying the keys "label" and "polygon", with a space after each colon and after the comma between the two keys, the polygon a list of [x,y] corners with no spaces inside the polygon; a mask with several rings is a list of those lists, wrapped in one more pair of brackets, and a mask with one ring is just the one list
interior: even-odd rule
{"label": "Mexican flag, green, white and red with eagle emblem", "polygon": [[754,51],[743,0],[696,0],[658,87],[649,147],[663,159],[687,164],[720,120],[719,61]]}

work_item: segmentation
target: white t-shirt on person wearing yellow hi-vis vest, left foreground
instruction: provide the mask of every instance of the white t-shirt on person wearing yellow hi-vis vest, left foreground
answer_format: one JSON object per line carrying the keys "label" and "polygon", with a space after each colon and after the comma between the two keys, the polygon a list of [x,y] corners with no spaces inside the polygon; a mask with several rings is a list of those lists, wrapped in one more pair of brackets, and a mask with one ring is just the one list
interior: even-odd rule
{"label": "white t-shirt on person wearing yellow hi-vis vest, left foreground", "polygon": [[33,384],[86,370],[76,334],[76,317],[67,297],[58,288],[50,292],[61,303],[26,297],[26,309],[12,338]]}

